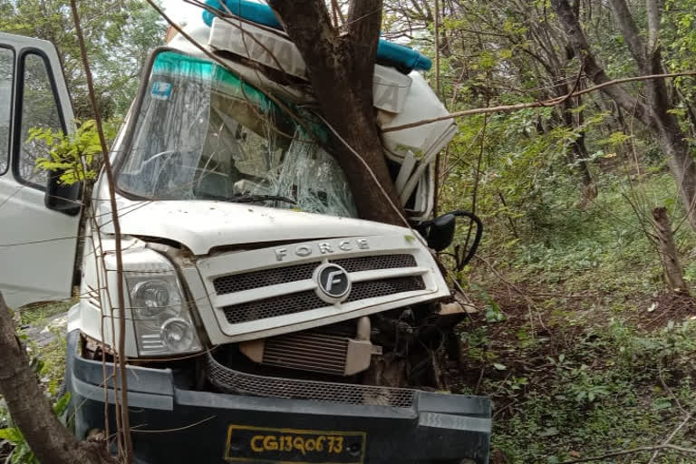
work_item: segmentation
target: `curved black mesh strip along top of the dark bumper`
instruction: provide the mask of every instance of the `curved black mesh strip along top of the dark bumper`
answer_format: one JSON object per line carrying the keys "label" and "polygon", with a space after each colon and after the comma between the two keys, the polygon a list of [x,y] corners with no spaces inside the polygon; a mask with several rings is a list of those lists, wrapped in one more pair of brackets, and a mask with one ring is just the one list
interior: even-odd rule
{"label": "curved black mesh strip along top of the dark bumper", "polygon": [[285,379],[235,371],[208,353],[208,380],[221,391],[271,398],[410,408],[416,391],[403,388]]}

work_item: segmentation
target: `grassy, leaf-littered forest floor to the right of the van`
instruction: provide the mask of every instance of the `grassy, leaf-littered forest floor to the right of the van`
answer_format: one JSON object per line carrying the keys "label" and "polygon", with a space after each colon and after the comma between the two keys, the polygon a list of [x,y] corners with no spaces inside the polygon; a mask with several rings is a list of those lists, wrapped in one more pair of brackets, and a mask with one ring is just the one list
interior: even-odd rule
{"label": "grassy, leaf-littered forest floor to the right of the van", "polygon": [[[665,291],[659,256],[626,199],[646,213],[667,206],[679,226],[673,181],[656,172],[628,189],[603,179],[585,210],[573,207],[576,191],[548,192],[543,214],[526,218],[512,247],[488,221],[479,254],[507,282],[478,264],[467,275],[482,311],[462,327],[468,369],[457,388],[494,401],[494,463],[652,446],[684,411],[696,411],[696,305]],[[693,282],[696,239],[688,225],[676,237]],[[696,448],[694,430],[696,422],[687,423],[672,443]],[[645,463],[651,455],[596,462]],[[696,455],[664,450],[655,462],[696,463]]]}

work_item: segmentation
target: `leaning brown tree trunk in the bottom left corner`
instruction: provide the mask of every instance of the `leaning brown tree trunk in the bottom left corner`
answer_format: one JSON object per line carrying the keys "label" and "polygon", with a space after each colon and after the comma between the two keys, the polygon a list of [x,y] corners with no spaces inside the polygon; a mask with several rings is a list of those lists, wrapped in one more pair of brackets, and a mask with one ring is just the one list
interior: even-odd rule
{"label": "leaning brown tree trunk in the bottom left corner", "polygon": [[29,366],[24,346],[0,293],[0,394],[39,462],[50,464],[113,463],[102,443],[78,442],[55,417]]}

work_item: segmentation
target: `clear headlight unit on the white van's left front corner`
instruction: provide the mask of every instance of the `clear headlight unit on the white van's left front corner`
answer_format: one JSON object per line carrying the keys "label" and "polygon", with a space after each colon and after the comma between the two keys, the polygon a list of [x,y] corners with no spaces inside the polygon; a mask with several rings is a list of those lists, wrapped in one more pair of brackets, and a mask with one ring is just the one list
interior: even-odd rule
{"label": "clear headlight unit on the white van's left front corner", "polygon": [[169,260],[145,249],[123,254],[131,314],[140,355],[201,349],[179,277]]}

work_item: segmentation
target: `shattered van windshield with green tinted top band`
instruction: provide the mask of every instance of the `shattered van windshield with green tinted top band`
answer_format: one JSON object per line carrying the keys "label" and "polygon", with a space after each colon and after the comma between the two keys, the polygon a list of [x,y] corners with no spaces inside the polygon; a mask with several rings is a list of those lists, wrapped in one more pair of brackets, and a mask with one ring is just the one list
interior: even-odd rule
{"label": "shattered van windshield with green tinted top band", "polygon": [[159,53],[137,118],[118,172],[125,193],[357,217],[326,128],[304,113],[295,121],[218,64]]}

